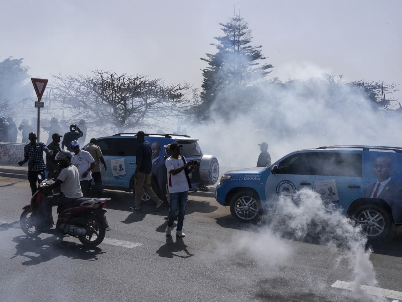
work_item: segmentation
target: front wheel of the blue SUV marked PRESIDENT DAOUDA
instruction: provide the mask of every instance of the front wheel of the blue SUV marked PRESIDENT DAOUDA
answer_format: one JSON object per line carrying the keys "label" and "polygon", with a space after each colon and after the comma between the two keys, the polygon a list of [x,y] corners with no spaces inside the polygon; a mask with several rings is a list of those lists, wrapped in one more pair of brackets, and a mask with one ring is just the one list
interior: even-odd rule
{"label": "front wheel of the blue SUV marked PRESIDENT DAOUDA", "polygon": [[254,221],[260,215],[260,211],[260,199],[251,192],[236,193],[230,200],[230,213],[238,221]]}

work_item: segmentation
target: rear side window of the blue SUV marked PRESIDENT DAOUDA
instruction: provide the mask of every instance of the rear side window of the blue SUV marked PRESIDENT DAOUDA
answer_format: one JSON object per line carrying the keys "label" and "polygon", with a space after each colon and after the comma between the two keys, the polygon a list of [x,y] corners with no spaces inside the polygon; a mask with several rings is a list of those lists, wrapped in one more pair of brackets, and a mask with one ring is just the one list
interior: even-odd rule
{"label": "rear side window of the blue SUV marked PRESIDENT DAOUDA", "polygon": [[322,152],[319,154],[317,175],[362,177],[360,153]]}

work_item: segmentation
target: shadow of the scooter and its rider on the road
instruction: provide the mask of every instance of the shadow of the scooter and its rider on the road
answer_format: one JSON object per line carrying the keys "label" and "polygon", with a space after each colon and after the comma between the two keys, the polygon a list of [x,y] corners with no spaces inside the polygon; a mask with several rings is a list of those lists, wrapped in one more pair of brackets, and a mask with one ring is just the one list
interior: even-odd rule
{"label": "shadow of the scooter and its rider on the road", "polygon": [[[59,256],[95,261],[98,260],[97,255],[105,253],[98,247],[84,247],[74,242],[56,240],[53,236],[45,239],[17,236],[12,241],[17,245],[15,246],[16,252],[11,258],[23,256],[29,259],[21,263],[22,265],[36,265]],[[32,253],[37,254],[37,256],[32,255]]]}

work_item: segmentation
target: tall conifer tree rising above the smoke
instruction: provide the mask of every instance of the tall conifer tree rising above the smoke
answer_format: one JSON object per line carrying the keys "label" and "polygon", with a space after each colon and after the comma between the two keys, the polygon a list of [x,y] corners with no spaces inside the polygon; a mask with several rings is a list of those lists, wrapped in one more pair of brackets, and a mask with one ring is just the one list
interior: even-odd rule
{"label": "tall conifer tree rising above the smoke", "polygon": [[251,30],[248,23],[238,15],[230,18],[222,26],[223,36],[214,37],[217,53],[206,53],[201,60],[208,63],[203,69],[201,104],[197,106],[196,118],[207,120],[210,108],[217,105],[217,111],[227,115],[233,106],[247,106],[244,98],[250,88],[263,80],[273,65],[264,63],[267,59],[261,52],[261,45],[252,46]]}

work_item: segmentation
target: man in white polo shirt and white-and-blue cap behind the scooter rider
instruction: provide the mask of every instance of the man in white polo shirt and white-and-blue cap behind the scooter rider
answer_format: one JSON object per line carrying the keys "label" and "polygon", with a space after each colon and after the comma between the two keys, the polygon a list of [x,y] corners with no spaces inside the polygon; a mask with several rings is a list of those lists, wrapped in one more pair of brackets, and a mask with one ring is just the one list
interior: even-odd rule
{"label": "man in white polo shirt and white-and-blue cap behind the scooter rider", "polygon": [[78,169],[81,191],[84,197],[87,197],[89,181],[92,180],[91,170],[95,167],[95,160],[89,152],[80,149],[78,141],[72,141],[71,148],[74,152],[71,157],[71,164],[75,165]]}

